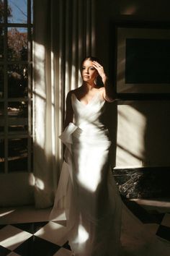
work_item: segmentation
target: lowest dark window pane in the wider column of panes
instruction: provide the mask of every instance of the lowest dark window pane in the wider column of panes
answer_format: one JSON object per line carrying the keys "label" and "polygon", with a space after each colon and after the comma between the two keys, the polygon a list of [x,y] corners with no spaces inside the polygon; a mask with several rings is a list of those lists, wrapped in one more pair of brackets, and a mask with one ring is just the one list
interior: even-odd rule
{"label": "lowest dark window pane in the wider column of panes", "polygon": [[9,172],[27,171],[27,139],[9,140]]}

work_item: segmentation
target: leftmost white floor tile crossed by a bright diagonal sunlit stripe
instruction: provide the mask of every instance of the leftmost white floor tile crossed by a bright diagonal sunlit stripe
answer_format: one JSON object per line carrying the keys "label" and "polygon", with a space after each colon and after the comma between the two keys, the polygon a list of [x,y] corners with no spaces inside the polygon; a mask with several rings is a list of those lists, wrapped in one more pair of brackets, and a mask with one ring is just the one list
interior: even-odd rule
{"label": "leftmost white floor tile crossed by a bright diagonal sunlit stripe", "polygon": [[32,236],[32,234],[8,225],[0,230],[0,244],[3,247],[14,250],[19,244],[29,239],[30,236]]}

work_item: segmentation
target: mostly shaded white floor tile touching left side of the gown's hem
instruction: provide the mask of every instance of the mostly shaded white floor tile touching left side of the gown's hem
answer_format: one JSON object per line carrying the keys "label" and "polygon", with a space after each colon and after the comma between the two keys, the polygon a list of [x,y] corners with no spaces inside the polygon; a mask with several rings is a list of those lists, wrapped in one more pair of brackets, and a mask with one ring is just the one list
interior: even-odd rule
{"label": "mostly shaded white floor tile touching left side of the gown's hem", "polygon": [[54,244],[62,246],[67,242],[68,230],[65,226],[61,226],[58,223],[50,221],[43,226],[42,229],[35,233],[35,236],[39,236],[42,239],[48,240]]}

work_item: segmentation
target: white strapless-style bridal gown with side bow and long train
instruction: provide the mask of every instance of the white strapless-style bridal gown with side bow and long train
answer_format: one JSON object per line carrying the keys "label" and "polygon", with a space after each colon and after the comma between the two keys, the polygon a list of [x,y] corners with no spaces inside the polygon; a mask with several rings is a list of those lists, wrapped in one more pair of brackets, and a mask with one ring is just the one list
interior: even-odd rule
{"label": "white strapless-style bridal gown with side bow and long train", "polygon": [[99,93],[87,105],[72,93],[71,103],[74,123],[60,136],[66,151],[50,219],[66,215],[73,255],[169,256],[169,243],[149,234],[120,199]]}

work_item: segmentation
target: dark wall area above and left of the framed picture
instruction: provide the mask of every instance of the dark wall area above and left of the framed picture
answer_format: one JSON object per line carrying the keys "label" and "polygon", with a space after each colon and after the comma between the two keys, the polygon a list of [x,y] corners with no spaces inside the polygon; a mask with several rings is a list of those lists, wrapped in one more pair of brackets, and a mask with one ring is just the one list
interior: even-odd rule
{"label": "dark wall area above and left of the framed picture", "polygon": [[96,0],[97,56],[109,61],[109,22],[170,21],[169,0]]}

